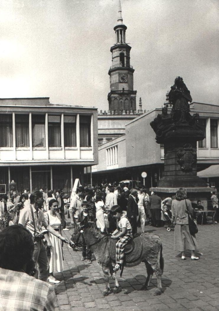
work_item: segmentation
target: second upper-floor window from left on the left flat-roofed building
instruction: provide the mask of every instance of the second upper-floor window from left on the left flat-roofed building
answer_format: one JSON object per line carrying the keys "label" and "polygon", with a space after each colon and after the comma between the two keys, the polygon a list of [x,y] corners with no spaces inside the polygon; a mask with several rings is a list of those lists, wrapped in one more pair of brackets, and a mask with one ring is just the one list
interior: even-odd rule
{"label": "second upper-floor window from left on the left flat-roofed building", "polygon": [[16,147],[29,147],[29,114],[15,115]]}

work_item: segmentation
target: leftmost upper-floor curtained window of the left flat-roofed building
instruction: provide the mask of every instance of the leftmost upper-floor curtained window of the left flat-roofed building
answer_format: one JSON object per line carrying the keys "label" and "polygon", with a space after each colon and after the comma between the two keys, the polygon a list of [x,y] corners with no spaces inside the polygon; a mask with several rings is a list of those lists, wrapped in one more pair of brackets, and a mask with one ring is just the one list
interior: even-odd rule
{"label": "leftmost upper-floor curtained window of the left flat-roofed building", "polygon": [[13,147],[12,114],[0,114],[0,147]]}

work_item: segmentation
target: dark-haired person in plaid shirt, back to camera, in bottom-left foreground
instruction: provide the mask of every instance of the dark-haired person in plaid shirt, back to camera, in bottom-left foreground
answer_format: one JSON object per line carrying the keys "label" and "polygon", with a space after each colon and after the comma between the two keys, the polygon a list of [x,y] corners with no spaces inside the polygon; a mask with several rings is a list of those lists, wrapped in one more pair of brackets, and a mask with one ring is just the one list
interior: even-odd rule
{"label": "dark-haired person in plaid shirt, back to camera, in bottom-left foreground", "polygon": [[58,310],[54,289],[33,276],[32,234],[19,225],[0,232],[0,306],[2,310]]}

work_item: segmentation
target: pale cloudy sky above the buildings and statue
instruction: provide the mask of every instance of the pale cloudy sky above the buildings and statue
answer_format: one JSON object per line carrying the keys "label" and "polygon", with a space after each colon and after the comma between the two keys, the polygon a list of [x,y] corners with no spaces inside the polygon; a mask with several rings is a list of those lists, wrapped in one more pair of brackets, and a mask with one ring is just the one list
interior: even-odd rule
{"label": "pale cloudy sky above the buildings and statue", "polygon": [[[193,101],[218,102],[218,0],[121,0],[142,108],[181,76]],[[118,0],[1,0],[0,98],[108,110]]]}

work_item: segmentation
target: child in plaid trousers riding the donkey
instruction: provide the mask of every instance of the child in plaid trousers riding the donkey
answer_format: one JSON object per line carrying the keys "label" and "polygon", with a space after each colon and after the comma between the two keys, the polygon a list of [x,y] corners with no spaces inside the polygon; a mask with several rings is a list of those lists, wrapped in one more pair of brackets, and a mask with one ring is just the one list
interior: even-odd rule
{"label": "child in plaid trousers riding the donkey", "polygon": [[123,212],[119,205],[114,205],[110,212],[117,218],[117,229],[112,233],[111,238],[119,238],[119,241],[116,243],[116,265],[113,268],[114,271],[118,271],[123,265],[125,245],[133,237],[132,227],[126,217],[126,212]]}

